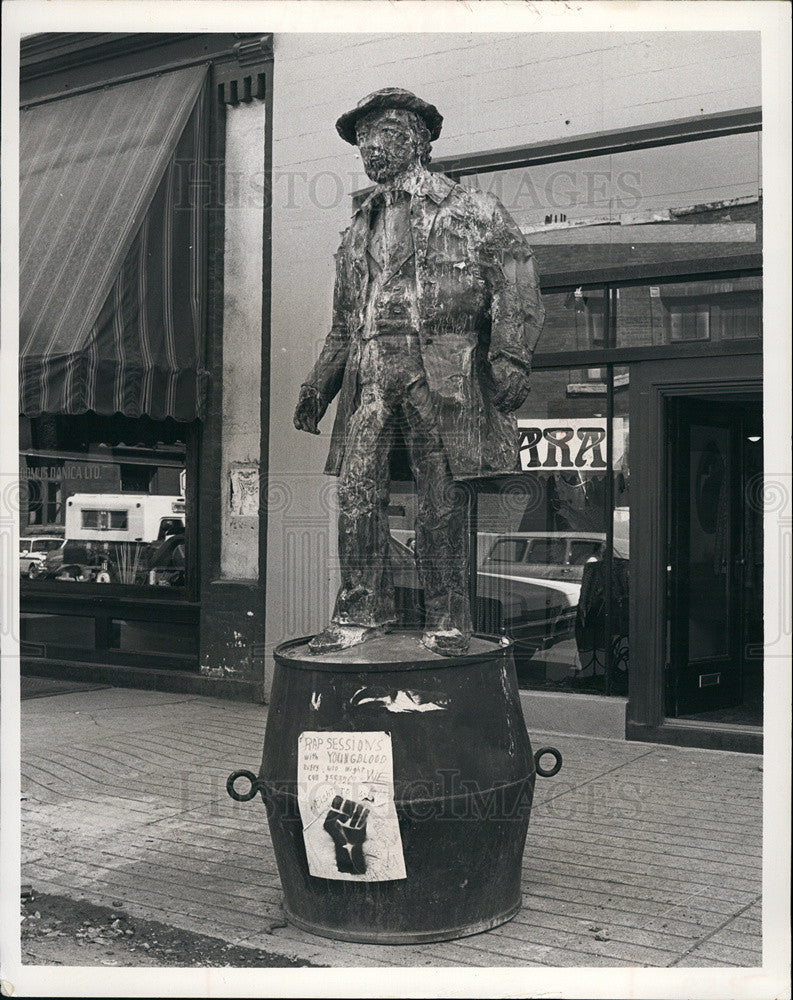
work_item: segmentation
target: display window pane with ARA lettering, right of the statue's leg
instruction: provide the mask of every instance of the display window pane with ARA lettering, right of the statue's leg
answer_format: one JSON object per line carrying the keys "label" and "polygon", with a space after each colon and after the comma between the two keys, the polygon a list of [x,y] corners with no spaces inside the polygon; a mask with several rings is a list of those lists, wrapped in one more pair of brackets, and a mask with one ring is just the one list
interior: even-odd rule
{"label": "display window pane with ARA lettering, right of the statue's leg", "polygon": [[523,687],[605,690],[576,622],[584,573],[606,545],[607,390],[606,369],[534,372],[517,413],[524,472],[478,489],[476,624],[514,640]]}

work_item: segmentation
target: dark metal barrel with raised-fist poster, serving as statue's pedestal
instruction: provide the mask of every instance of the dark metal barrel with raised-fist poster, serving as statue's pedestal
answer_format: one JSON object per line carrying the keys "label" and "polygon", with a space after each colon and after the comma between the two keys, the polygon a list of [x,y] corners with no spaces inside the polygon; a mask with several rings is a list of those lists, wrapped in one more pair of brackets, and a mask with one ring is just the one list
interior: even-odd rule
{"label": "dark metal barrel with raised-fist poster, serving as statue's pedestal", "polygon": [[[512,918],[521,905],[536,768],[511,644],[475,636],[466,655],[447,659],[428,652],[415,632],[318,657],[306,642],[275,650],[261,770],[245,796],[260,791],[267,806],[286,917],[315,934],[383,944],[462,937]],[[365,874],[365,857],[383,863],[365,822],[369,800],[353,812],[336,795],[329,832],[319,828],[321,816],[304,830],[298,799],[306,765],[299,772],[298,747],[301,734],[306,746],[311,733],[320,734],[315,743],[340,747],[387,738],[401,877]],[[347,872],[317,877],[309,871],[309,833],[330,851],[334,824],[343,832],[339,864]],[[350,846],[355,839],[360,849]],[[343,864],[348,857],[351,866]]]}

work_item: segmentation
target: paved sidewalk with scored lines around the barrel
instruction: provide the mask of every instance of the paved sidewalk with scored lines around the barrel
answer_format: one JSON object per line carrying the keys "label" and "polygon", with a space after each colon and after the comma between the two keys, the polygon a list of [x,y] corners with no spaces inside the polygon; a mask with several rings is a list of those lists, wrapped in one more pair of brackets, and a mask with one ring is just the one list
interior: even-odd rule
{"label": "paved sidewalk with scored lines around the barrel", "polygon": [[[258,770],[266,707],[109,688],[22,704],[22,880],[330,966],[757,966],[761,758],[547,742],[523,909],[459,941],[347,944],[284,925]],[[530,731],[534,747],[546,734]]]}

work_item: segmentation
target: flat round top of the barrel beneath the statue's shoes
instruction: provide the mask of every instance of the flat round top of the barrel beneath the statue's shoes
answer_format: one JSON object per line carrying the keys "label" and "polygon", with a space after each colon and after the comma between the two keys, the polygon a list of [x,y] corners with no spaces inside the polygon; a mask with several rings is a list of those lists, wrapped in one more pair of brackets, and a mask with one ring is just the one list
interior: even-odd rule
{"label": "flat round top of the barrel beneath the statue's shoes", "polygon": [[421,632],[400,629],[378,639],[369,639],[337,653],[314,654],[308,648],[311,636],[282,642],[275,659],[285,666],[304,670],[439,670],[506,656],[512,641],[505,636],[473,635],[464,656],[441,656],[421,643]]}

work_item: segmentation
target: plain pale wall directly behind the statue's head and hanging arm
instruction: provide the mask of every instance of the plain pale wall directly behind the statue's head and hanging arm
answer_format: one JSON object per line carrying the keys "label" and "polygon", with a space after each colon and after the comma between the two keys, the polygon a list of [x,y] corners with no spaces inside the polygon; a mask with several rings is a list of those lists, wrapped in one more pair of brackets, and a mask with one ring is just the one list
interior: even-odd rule
{"label": "plain pale wall directly behind the statue's head and hanging arm", "polygon": [[274,39],[273,269],[266,662],[320,628],[337,580],[335,480],[292,413],[330,327],[333,254],[365,187],[334,122],[406,87],[444,116],[437,157],[761,103],[752,33],[281,34]]}

